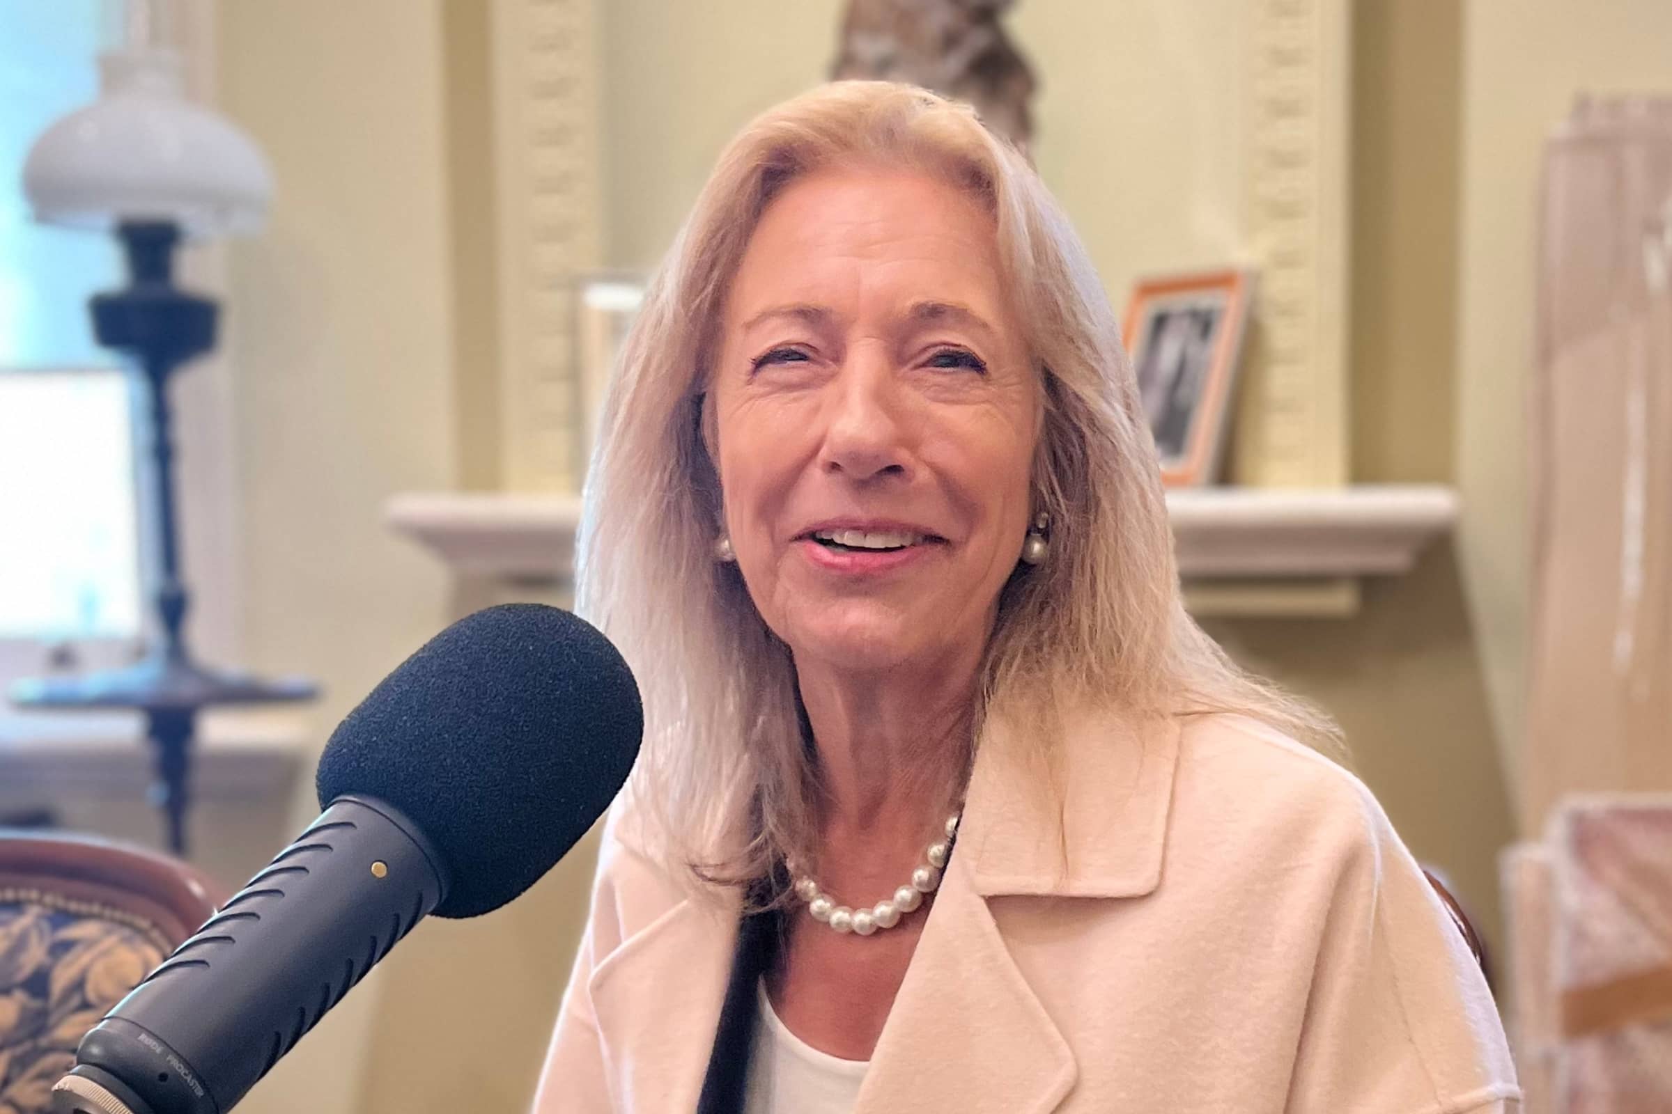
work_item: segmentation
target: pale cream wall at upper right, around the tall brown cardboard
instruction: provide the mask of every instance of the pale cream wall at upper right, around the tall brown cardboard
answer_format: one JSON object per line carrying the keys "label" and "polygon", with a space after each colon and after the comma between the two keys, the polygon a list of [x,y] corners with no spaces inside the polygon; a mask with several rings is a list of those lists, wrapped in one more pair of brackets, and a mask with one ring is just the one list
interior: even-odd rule
{"label": "pale cream wall at upper right, around the tall brown cardboard", "polygon": [[1505,760],[1527,670],[1527,386],[1545,135],[1580,92],[1672,90],[1664,0],[1468,0],[1458,257],[1461,551]]}

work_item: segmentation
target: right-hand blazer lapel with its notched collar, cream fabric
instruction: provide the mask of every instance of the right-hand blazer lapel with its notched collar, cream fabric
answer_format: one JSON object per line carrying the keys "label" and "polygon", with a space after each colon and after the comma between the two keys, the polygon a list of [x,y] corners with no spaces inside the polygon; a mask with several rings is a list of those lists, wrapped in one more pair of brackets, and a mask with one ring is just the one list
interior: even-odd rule
{"label": "right-hand blazer lapel with its notched collar, cream fabric", "polygon": [[1037,775],[1020,758],[1018,733],[988,723],[958,847],[856,1114],[1047,1114],[1073,1089],[1073,1051],[1012,959],[988,902],[1154,892],[1179,725],[1088,713],[1065,717],[1063,728],[1063,797],[1052,802],[1027,790]]}

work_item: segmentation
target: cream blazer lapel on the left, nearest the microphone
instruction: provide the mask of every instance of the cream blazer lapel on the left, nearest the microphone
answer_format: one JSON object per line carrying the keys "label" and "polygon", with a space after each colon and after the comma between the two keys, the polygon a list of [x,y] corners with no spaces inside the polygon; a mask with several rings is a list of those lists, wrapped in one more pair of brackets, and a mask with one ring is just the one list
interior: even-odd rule
{"label": "cream blazer lapel on the left, nearest the microphone", "polygon": [[686,899],[592,972],[615,1109],[697,1109],[737,924],[737,904]]}

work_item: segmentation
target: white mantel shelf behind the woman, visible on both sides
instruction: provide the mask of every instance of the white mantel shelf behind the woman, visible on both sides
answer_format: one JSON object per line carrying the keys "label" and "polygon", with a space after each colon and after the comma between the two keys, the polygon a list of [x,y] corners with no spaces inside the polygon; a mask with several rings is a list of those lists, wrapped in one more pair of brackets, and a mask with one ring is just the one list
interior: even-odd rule
{"label": "white mantel shelf behind the woman, visible on both sides", "polygon": [[[1167,494],[1189,581],[1341,581],[1396,576],[1458,514],[1451,488],[1192,488]],[[580,499],[430,493],[388,503],[390,526],[463,576],[563,581],[573,571]]]}

